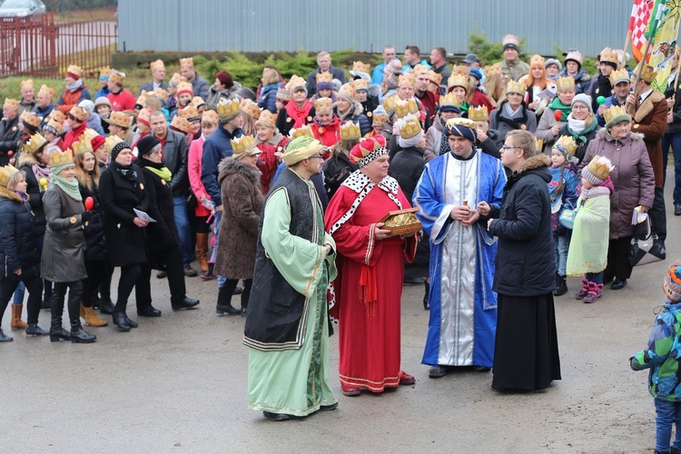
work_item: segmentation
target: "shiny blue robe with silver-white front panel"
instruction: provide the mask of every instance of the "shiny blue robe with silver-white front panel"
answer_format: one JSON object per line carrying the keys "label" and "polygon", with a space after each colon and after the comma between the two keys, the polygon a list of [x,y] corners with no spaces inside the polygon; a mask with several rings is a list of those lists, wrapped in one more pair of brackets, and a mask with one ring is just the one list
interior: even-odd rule
{"label": "shiny blue robe with silver-white front panel", "polygon": [[426,164],[414,206],[430,236],[430,320],[424,364],[491,367],[497,329],[492,291],[496,240],[486,222],[466,227],[448,221],[464,200],[499,206],[506,174],[501,162],[479,150],[468,160],[445,153]]}

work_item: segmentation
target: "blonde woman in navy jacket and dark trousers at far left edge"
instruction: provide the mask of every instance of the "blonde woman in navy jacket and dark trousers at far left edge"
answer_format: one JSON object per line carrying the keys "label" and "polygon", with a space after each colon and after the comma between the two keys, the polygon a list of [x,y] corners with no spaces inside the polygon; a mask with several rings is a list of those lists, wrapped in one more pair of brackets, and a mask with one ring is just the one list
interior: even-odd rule
{"label": "blonde woman in navy jacket and dark trousers at far left edge", "polygon": [[[26,335],[44,336],[38,326],[43,293],[40,280],[40,254],[35,247],[35,216],[26,200],[24,173],[11,165],[0,169],[0,321],[16,286],[23,281],[28,289]],[[2,326],[2,323],[0,323]],[[0,342],[13,341],[0,328]]]}

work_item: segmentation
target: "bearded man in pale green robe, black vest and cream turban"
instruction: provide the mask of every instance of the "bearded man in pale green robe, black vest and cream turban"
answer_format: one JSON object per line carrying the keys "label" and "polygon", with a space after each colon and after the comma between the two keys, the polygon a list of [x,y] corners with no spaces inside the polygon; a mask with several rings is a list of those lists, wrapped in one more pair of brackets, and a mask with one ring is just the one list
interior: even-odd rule
{"label": "bearded man in pale green robe, black vest and cream turban", "polygon": [[334,410],[328,380],[326,289],[336,277],[336,244],[324,232],[321,202],[311,183],[322,145],[293,140],[287,168],[271,188],[260,220],[258,249],[243,343],[250,347],[248,401],[266,418],[286,420]]}

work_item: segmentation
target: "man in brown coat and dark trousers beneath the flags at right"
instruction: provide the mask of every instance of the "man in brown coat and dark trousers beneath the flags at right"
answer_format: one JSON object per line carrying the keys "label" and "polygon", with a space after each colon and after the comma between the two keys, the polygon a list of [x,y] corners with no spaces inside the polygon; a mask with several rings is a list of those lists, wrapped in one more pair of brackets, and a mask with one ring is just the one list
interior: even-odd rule
{"label": "man in brown coat and dark trousers beneath the flags at right", "polygon": [[648,64],[643,66],[638,82],[632,79],[632,85],[636,87],[636,90],[628,95],[627,105],[634,106],[631,131],[643,134],[650,163],[653,164],[655,202],[648,214],[653,223],[653,233],[656,235],[653,248],[656,248],[656,255],[664,260],[666,257],[666,212],[661,140],[666,133],[666,100],[664,94],[653,90],[650,86],[655,76],[652,66]]}

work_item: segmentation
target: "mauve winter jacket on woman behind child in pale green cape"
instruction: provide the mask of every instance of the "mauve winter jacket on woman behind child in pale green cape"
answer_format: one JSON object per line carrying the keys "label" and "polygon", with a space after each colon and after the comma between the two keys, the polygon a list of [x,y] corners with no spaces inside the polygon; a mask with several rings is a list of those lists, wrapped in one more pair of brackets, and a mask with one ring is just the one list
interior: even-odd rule
{"label": "mauve winter jacket on woman behind child in pale green cape", "polygon": [[655,198],[655,176],[643,135],[630,133],[627,139],[619,141],[605,128],[601,129],[597,138],[588,143],[579,171],[596,155],[605,156],[615,164],[615,170],[610,173],[615,185],[615,193],[610,197],[610,239],[630,237],[634,234],[631,225],[634,208],[638,205],[650,208]]}

